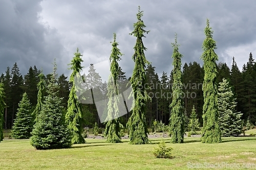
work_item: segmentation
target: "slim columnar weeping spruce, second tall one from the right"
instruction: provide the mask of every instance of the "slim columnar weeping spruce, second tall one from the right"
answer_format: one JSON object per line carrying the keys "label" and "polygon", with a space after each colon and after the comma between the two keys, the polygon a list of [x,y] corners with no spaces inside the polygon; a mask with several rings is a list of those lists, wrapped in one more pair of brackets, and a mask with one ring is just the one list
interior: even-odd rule
{"label": "slim columnar weeping spruce, second tall one from the right", "polygon": [[170,139],[173,143],[183,143],[184,141],[184,104],[182,100],[182,72],[181,72],[181,58],[179,53],[179,44],[177,44],[177,34],[175,34],[175,43],[173,44],[174,52],[172,58],[173,61],[173,101],[169,105],[170,107]]}

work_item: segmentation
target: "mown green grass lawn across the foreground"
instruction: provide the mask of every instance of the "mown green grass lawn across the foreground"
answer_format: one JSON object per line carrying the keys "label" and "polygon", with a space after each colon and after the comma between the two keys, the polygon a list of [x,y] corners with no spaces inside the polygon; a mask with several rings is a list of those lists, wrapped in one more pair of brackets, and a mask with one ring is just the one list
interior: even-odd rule
{"label": "mown green grass lawn across the foreground", "polygon": [[[185,143],[169,143],[174,159],[159,159],[152,154],[161,138],[151,139],[153,144],[132,145],[129,140],[122,143],[105,143],[105,139],[87,139],[86,144],[74,144],[71,149],[35,150],[30,140],[4,140],[0,142],[0,169],[191,169],[201,164],[215,163],[226,166],[247,165],[256,169],[256,137],[223,138],[222,143],[201,143],[199,137],[185,138]],[[254,164],[253,164],[254,163]],[[212,169],[212,168],[211,168]]]}

